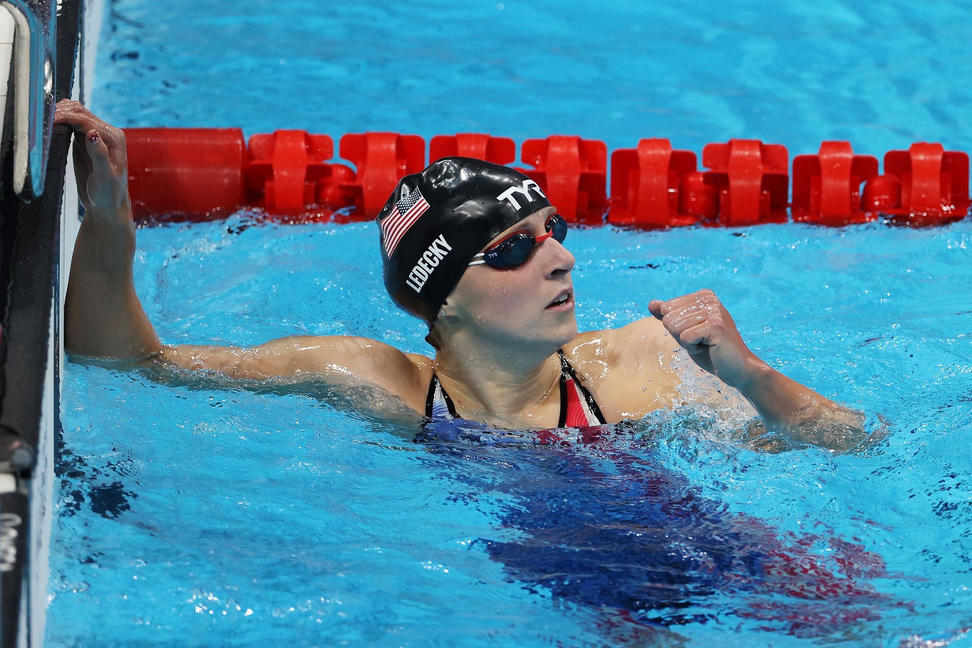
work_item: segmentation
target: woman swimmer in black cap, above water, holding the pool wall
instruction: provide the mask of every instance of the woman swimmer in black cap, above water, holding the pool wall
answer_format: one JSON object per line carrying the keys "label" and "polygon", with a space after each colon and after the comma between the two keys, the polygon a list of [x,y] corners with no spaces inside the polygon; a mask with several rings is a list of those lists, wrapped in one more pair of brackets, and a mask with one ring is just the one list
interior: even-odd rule
{"label": "woman swimmer in black cap, above water, holding the pool wall", "polygon": [[54,122],[74,130],[85,207],[65,304],[72,354],[370,386],[417,415],[505,429],[614,424],[677,405],[681,355],[721,384],[712,407],[726,407],[725,393],[751,403],[758,419],[745,433],[755,447],[783,438],[844,451],[866,436],[863,414],[757,358],[712,290],[652,299],[637,322],[578,332],[567,222],[527,176],[464,157],[402,178],[378,215],[385,286],[428,325],[432,358],[349,336],[162,344],[133,283],[124,134],[70,100]]}

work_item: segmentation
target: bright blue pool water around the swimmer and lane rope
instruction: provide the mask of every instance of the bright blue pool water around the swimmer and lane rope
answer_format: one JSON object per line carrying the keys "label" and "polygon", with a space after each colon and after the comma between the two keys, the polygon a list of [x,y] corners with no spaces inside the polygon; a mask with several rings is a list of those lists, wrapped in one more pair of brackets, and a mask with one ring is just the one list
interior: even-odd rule
{"label": "bright blue pool water around the swimmer and lane rope", "polygon": [[[93,108],[248,134],[972,150],[958,3],[260,4],[114,2]],[[763,455],[691,403],[556,449],[417,437],[358,413],[380,394],[76,362],[48,643],[970,645],[972,220],[568,245],[582,328],[711,288],[762,358],[884,417],[885,437]],[[381,286],[371,223],[147,227],[135,273],[168,343],[427,351]]]}

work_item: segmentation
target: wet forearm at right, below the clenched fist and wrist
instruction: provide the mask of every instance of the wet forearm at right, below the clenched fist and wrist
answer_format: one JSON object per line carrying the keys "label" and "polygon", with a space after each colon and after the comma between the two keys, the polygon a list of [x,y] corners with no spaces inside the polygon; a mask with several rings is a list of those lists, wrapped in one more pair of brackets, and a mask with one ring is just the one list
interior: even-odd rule
{"label": "wet forearm at right, below the clenched fist and wrist", "polygon": [[762,418],[763,431],[836,451],[850,450],[866,434],[862,412],[825,398],[768,365],[753,372],[738,389]]}

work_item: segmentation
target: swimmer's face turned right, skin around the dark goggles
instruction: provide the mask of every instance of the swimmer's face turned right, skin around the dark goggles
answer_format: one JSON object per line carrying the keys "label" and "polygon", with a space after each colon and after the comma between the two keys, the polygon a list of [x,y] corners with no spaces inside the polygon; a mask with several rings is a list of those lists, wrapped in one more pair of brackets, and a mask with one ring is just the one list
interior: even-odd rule
{"label": "swimmer's face turned right, skin around the dark goggles", "polygon": [[[546,207],[531,214],[504,230],[480,252],[513,232],[544,234],[546,220],[554,213],[553,207]],[[472,327],[475,336],[485,342],[509,347],[518,343],[560,347],[577,334],[573,264],[573,255],[563,245],[553,237],[546,238],[518,268],[470,266],[444,308],[455,324]]]}

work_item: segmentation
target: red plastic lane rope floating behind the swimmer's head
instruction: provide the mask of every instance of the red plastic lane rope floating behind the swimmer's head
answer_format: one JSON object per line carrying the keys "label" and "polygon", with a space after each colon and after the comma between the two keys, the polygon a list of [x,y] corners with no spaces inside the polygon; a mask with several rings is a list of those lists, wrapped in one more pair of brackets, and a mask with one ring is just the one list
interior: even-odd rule
{"label": "red plastic lane rope floating behind the swimmer's head", "polygon": [[[399,178],[426,163],[425,141],[399,133],[329,135],[277,130],[244,140],[239,128],[128,128],[129,189],[139,221],[212,220],[239,209],[285,220],[373,219]],[[514,164],[516,144],[482,133],[437,135],[445,155]],[[608,159],[610,170],[608,172]],[[516,167],[570,222],[666,228],[766,222],[845,225],[888,217],[933,224],[969,211],[968,154],[920,142],[878,158],[849,142],[797,155],[780,144],[734,139],[696,153],[645,138],[610,153],[604,142],[551,135],[526,140]],[[352,168],[352,165],[354,168]],[[791,182],[792,181],[792,182]],[[608,191],[609,188],[609,191]],[[792,202],[789,201],[792,188]]]}

